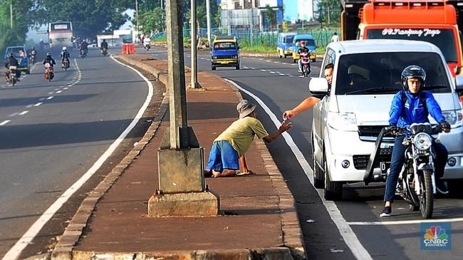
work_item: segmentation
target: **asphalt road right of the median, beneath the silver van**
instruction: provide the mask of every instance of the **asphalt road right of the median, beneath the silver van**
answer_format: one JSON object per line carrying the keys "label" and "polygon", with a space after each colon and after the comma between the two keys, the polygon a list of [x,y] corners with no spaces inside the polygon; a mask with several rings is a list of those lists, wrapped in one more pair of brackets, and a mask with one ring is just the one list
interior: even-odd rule
{"label": "asphalt road right of the median, beneath the silver van", "polygon": [[[165,50],[155,48],[153,56],[165,59]],[[185,63],[190,64],[189,53]],[[312,63],[312,76],[318,76],[321,63]],[[281,120],[288,110],[308,96],[308,79],[296,71],[290,58],[241,57],[241,70],[217,68],[210,71],[210,56],[198,56],[198,69],[216,73],[232,80],[244,98],[257,103],[257,113],[269,132],[276,130],[269,115]],[[268,108],[264,110],[263,107]],[[308,259],[461,259],[463,255],[463,201],[461,195],[437,197],[431,222],[451,223],[452,250],[425,251],[422,241],[420,212],[410,212],[407,204],[397,199],[394,217],[380,218],[383,209],[384,184],[344,185],[340,202],[326,202],[323,191],[315,189],[303,165],[313,165],[311,159],[311,111],[293,118],[290,138],[279,138],[267,144],[276,165],[296,200],[298,218]],[[288,142],[289,140],[289,142]],[[293,144],[291,144],[291,140]],[[294,150],[303,156],[296,157]],[[251,166],[250,166],[251,167]],[[430,226],[425,223],[425,228]],[[447,230],[447,233],[449,231]]]}

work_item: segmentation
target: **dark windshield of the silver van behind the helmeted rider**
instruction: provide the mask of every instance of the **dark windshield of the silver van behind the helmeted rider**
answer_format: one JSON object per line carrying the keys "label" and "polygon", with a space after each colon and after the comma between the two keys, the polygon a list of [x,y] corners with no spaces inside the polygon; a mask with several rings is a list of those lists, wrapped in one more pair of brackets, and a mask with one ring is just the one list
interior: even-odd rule
{"label": "dark windshield of the silver van behind the helmeted rider", "polygon": [[410,65],[426,71],[425,90],[452,92],[447,65],[429,52],[353,53],[340,56],[335,95],[392,94],[402,89],[400,75]]}

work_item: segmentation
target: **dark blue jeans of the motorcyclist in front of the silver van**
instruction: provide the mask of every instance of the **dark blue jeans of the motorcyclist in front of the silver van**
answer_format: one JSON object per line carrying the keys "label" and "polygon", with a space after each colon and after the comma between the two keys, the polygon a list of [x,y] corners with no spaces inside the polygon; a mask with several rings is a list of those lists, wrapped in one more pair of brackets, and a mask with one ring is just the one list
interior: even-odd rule
{"label": "dark blue jeans of the motorcyclist in front of the silver van", "polygon": [[[402,141],[405,136],[395,137],[394,147],[392,148],[392,159],[390,163],[390,172],[386,179],[386,189],[384,194],[385,202],[394,202],[395,187],[397,187],[397,178],[399,177],[402,165],[405,162],[405,147],[402,145]],[[435,177],[436,180],[444,176],[445,164],[447,163],[447,157],[449,152],[442,143],[432,142],[432,148],[435,150],[436,158],[434,160]]]}

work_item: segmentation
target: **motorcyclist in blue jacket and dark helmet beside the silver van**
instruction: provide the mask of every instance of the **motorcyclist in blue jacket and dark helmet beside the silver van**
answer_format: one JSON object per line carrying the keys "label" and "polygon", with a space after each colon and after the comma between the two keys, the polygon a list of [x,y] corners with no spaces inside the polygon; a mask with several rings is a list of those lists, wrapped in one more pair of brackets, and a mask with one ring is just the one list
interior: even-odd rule
{"label": "motorcyclist in blue jacket and dark helmet beside the silver van", "polygon": [[[392,135],[397,132],[397,128],[404,128],[410,126],[412,123],[429,123],[428,115],[431,115],[432,118],[439,122],[444,132],[450,132],[450,125],[445,121],[442,110],[435,100],[434,95],[429,91],[422,90],[425,87],[425,80],[425,70],[420,66],[408,66],[402,71],[403,89],[395,94],[389,112],[389,124]],[[403,98],[406,99],[405,102]],[[407,147],[402,145],[404,138],[404,135],[395,137],[390,172],[386,179],[385,207],[383,212],[380,213],[380,217],[389,217],[392,213],[397,177],[402,169],[402,165],[405,163],[405,149]],[[444,175],[448,152],[440,142],[433,141],[432,148],[436,153],[434,160],[436,189],[442,194],[447,194],[447,187],[440,178]]]}

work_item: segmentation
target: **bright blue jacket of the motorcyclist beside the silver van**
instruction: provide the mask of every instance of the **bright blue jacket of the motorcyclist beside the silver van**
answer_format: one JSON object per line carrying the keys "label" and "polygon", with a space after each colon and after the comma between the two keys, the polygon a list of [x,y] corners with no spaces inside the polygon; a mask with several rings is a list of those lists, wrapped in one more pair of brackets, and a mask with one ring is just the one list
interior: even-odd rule
{"label": "bright blue jacket of the motorcyclist beside the silver van", "polygon": [[[410,91],[405,91],[407,103],[402,109],[402,91],[399,91],[392,98],[392,104],[389,111],[389,124],[397,125],[397,128],[404,128],[412,123],[429,123],[427,116],[430,114],[438,123],[445,120],[442,110],[429,91],[422,91],[419,95],[413,95]],[[425,95],[426,108],[422,104],[420,95]]]}

